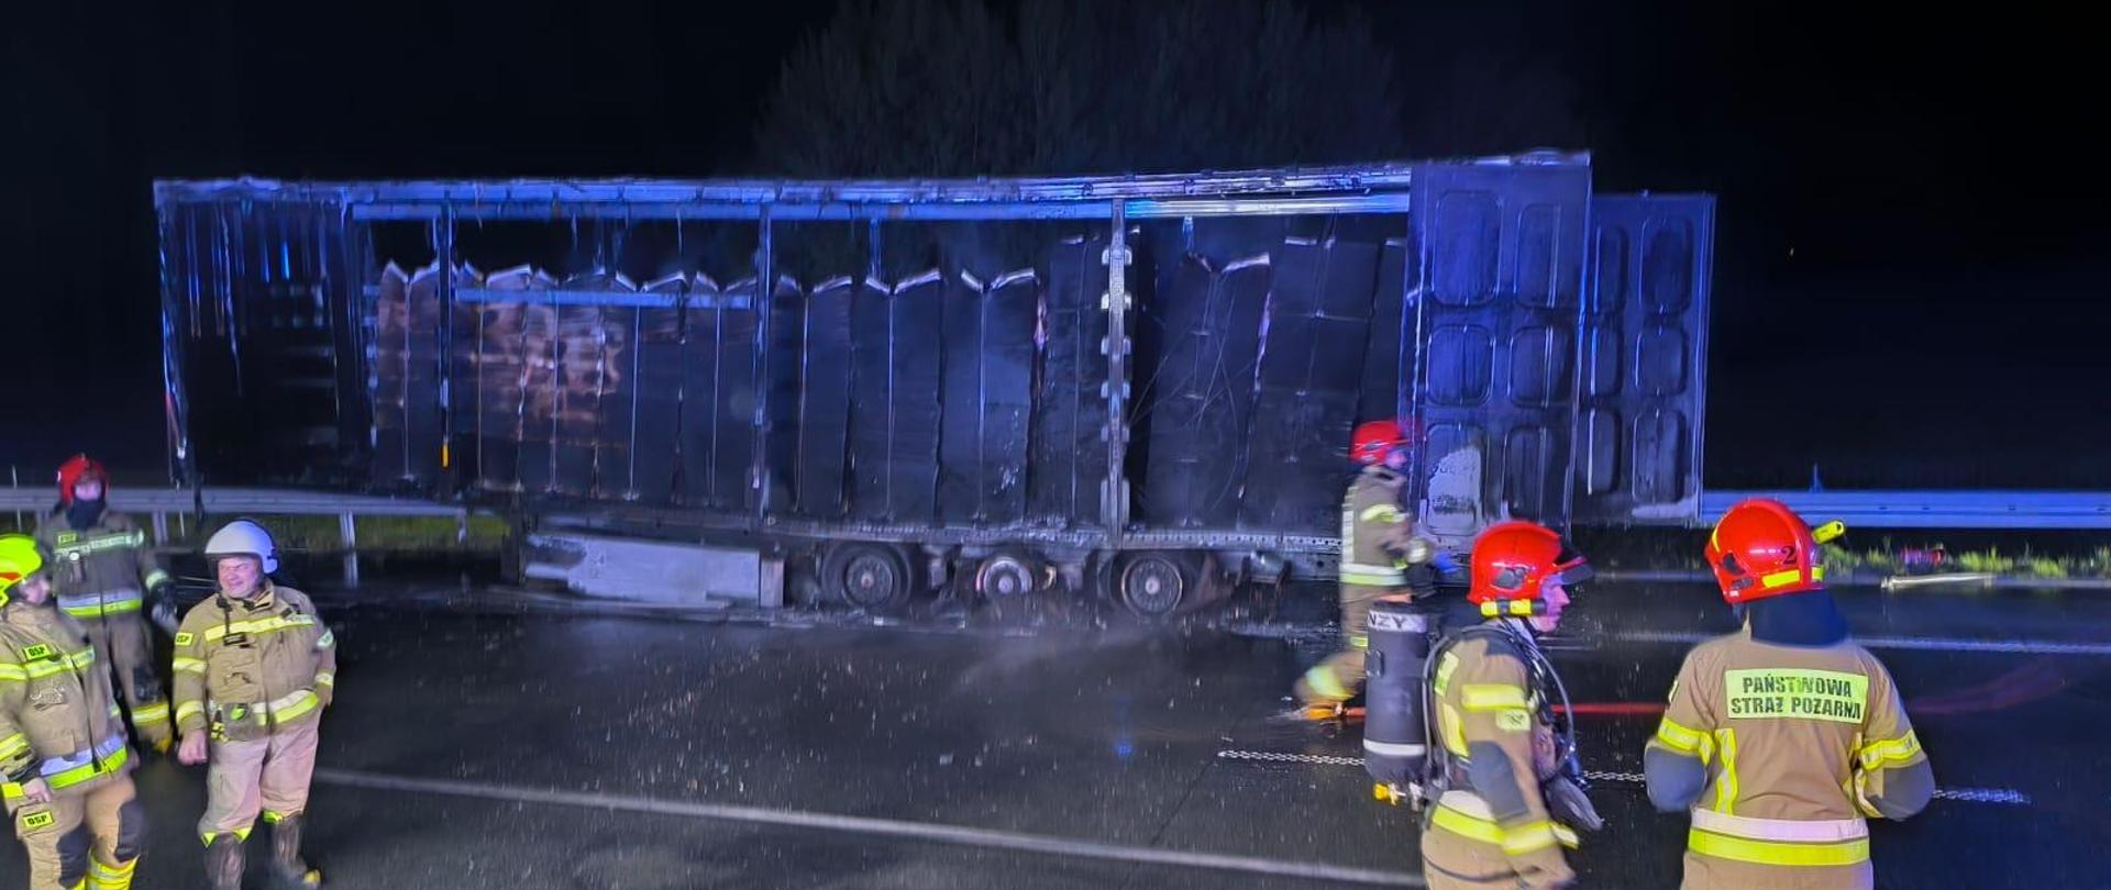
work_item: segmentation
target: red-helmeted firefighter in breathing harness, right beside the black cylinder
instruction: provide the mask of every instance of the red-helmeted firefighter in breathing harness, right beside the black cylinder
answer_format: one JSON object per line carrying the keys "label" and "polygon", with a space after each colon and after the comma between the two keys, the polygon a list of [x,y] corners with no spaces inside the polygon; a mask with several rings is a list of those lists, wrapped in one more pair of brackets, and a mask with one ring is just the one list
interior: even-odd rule
{"label": "red-helmeted firefighter in breathing harness, right beside the black cylinder", "polygon": [[[1431,787],[1423,877],[1431,888],[1560,888],[1577,829],[1602,823],[1583,795],[1566,692],[1539,652],[1590,578],[1552,529],[1505,521],[1473,542],[1467,601],[1480,624],[1452,631],[1429,660]],[[1560,730],[1556,732],[1556,725]]]}

